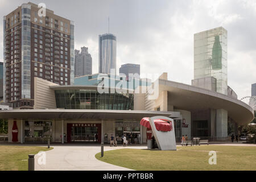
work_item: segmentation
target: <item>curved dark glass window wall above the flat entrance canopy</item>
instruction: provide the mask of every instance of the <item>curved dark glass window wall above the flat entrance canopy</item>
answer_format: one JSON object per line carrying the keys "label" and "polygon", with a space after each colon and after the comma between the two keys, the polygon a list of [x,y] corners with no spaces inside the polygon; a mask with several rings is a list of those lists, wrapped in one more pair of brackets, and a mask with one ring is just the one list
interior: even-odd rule
{"label": "curved dark glass window wall above the flat entrance canopy", "polygon": [[57,108],[133,110],[134,95],[100,94],[97,90],[55,90]]}

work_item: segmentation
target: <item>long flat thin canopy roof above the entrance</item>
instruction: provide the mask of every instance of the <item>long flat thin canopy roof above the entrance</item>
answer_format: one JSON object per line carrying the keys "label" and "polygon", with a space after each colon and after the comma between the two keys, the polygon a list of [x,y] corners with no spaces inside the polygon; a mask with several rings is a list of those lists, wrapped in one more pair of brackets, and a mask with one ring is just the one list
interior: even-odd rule
{"label": "long flat thin canopy roof above the entrance", "polygon": [[137,110],[5,110],[0,111],[3,119],[138,119],[144,117],[165,116],[180,117],[177,112],[137,111]]}

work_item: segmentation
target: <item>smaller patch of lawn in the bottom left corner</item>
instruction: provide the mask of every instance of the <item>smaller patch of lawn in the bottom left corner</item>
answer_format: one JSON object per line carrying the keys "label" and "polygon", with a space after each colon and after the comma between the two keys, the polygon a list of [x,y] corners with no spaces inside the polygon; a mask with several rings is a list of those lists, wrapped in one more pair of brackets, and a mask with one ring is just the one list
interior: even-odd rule
{"label": "smaller patch of lawn in the bottom left corner", "polygon": [[0,146],[0,171],[27,171],[28,154],[52,150],[47,147]]}

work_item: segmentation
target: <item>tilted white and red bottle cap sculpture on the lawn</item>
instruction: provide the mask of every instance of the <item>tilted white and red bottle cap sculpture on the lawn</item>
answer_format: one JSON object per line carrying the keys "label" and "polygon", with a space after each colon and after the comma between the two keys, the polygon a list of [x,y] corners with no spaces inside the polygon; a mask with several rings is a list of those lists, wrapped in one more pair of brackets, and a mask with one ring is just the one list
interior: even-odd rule
{"label": "tilted white and red bottle cap sculpture on the lawn", "polygon": [[147,129],[151,129],[159,150],[177,150],[175,130],[173,127],[174,119],[162,116],[143,118],[141,125],[147,127]]}

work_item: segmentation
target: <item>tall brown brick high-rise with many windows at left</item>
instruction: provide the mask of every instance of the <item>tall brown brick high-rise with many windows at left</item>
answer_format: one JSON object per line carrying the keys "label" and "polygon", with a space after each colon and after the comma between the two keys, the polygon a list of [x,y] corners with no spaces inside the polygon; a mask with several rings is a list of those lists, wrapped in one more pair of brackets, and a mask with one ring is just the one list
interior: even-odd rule
{"label": "tall brown brick high-rise with many windows at left", "polygon": [[23,4],[3,18],[5,102],[33,109],[34,77],[59,85],[74,81],[74,23],[38,5]]}

